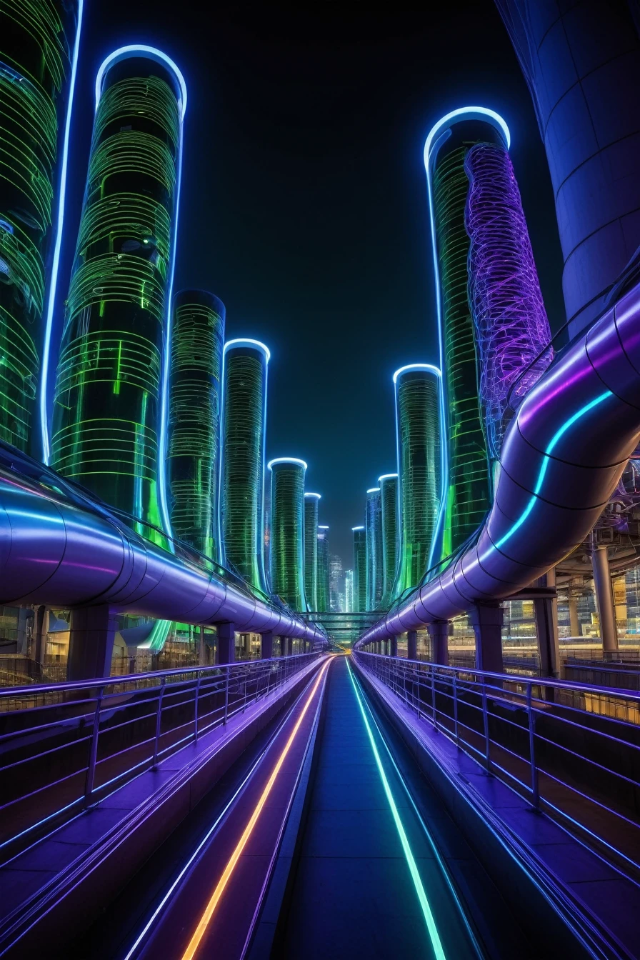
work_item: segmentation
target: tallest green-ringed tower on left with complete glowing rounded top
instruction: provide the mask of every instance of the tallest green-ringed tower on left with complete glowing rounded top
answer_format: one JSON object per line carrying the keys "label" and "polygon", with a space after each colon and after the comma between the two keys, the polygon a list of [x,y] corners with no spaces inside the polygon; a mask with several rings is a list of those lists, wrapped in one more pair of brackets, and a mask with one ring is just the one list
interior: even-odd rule
{"label": "tallest green-ringed tower on left with complete glowing rounded top", "polygon": [[59,354],[54,468],[170,532],[165,388],[186,89],[159,51],[103,63]]}

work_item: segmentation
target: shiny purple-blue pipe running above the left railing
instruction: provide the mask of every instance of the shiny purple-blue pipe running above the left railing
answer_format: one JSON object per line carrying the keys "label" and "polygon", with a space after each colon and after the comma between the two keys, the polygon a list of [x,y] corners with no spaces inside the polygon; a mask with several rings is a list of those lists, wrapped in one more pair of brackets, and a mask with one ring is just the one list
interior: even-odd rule
{"label": "shiny purple-blue pipe running above the left railing", "polygon": [[115,612],[322,642],[313,625],[12,470],[0,469],[0,604]]}

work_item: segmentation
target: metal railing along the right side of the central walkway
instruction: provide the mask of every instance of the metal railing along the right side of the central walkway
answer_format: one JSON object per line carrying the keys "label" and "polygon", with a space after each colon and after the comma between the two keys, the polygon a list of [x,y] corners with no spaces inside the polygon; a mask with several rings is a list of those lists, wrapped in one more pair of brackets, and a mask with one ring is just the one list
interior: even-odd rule
{"label": "metal railing along the right side of the central walkway", "polygon": [[640,693],[354,656],[487,773],[640,877]]}

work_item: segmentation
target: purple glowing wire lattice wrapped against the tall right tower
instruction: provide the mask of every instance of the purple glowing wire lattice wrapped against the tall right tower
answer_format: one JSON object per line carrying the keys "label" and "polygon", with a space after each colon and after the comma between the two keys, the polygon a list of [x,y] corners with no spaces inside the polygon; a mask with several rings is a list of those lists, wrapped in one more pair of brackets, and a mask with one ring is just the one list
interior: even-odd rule
{"label": "purple glowing wire lattice wrapped against the tall right tower", "polygon": [[551,330],[510,156],[504,147],[478,143],[469,150],[464,169],[470,182],[465,211],[471,241],[468,297],[486,440],[489,455],[497,460],[511,407],[529,393],[554,350],[544,349]]}

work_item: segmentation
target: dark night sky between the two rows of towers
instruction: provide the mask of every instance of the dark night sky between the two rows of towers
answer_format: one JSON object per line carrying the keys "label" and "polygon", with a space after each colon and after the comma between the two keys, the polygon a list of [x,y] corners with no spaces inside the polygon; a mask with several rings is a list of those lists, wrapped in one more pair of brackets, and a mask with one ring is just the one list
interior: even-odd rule
{"label": "dark night sky between the two rows of towers", "polygon": [[448,110],[507,120],[550,320],[564,320],[551,182],[502,21],[491,0],[85,7],[72,241],[97,68],[124,43],[158,46],[189,91],[176,289],[212,290],[227,339],[271,348],[268,455],[307,461],[350,566],[365,491],[394,469],[391,374],[438,361],[422,147]]}

